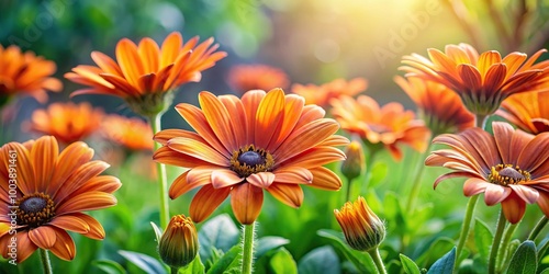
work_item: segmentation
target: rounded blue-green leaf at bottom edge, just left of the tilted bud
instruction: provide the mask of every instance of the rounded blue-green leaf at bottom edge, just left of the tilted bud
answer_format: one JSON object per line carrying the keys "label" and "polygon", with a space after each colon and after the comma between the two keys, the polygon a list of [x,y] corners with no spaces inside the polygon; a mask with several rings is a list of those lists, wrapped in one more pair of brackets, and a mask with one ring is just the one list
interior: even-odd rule
{"label": "rounded blue-green leaf at bottom edge, just left of the tilted bud", "polygon": [[329,246],[320,247],[305,254],[299,265],[300,274],[337,274],[341,273],[339,258]]}

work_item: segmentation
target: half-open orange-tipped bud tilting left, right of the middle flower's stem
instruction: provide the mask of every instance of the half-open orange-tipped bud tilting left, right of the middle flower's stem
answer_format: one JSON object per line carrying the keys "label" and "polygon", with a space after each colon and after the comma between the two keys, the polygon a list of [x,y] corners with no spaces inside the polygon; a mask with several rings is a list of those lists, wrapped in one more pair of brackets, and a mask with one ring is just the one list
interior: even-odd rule
{"label": "half-open orange-tipped bud tilting left, right of the middle flower's stem", "polygon": [[385,225],[361,196],[355,203],[345,203],[341,209],[335,209],[334,214],[352,249],[369,251],[385,239]]}

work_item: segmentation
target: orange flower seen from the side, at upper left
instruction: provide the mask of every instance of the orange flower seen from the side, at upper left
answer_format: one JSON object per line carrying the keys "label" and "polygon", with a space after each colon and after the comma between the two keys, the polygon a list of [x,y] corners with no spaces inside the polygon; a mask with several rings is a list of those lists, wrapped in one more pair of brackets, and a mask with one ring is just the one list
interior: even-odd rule
{"label": "orange flower seen from the side, at upper left", "polygon": [[91,58],[98,67],[80,65],[65,77],[91,87],[72,95],[115,95],[126,100],[136,113],[154,115],[171,104],[171,91],[183,83],[200,81],[201,71],[226,56],[224,52],[215,52],[217,45],[211,46],[213,38],[197,46],[198,41],[193,37],[183,44],[181,34],[173,32],[160,48],[148,37],[143,38],[138,46],[123,38],[116,45],[117,64],[109,56],[93,52]]}

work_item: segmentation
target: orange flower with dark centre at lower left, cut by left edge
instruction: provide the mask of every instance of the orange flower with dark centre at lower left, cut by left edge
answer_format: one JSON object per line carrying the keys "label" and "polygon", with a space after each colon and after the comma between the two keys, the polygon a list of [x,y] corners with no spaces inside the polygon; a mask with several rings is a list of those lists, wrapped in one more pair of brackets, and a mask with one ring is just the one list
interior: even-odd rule
{"label": "orange flower with dark centre at lower left, cut by left edge", "polygon": [[[44,136],[26,144],[0,148],[0,250],[3,258],[26,260],[37,248],[63,260],[76,255],[66,230],[102,240],[101,224],[82,212],[111,207],[121,183],[99,175],[109,164],[90,161],[93,150],[85,142],[58,152],[57,140]],[[16,238],[16,252],[9,248]]]}

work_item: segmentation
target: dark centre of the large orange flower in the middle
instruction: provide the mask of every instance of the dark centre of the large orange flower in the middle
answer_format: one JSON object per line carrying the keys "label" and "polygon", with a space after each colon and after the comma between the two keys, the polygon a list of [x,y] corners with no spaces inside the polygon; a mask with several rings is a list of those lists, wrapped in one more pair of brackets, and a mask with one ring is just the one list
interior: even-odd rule
{"label": "dark centre of the large orange flower in the middle", "polygon": [[242,178],[269,171],[274,164],[271,153],[265,149],[248,145],[235,150],[231,158],[231,169]]}

